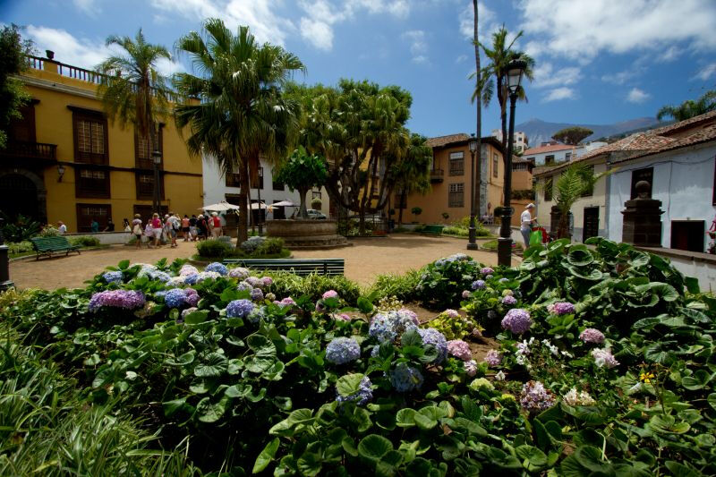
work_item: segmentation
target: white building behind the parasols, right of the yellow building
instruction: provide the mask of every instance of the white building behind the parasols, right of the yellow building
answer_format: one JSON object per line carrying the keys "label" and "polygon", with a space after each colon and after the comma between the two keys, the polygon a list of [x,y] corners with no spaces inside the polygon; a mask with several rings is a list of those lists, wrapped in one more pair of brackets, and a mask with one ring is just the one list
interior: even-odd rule
{"label": "white building behind the parasols, right of the yellow building", "polygon": [[[251,191],[249,197],[251,203],[259,201],[259,195],[261,202],[270,205],[283,200],[291,200],[296,204],[295,208],[275,208],[272,211],[274,219],[288,218],[298,210],[298,205],[301,203],[298,191],[291,192],[288,187],[283,183],[273,182],[273,171],[272,167],[264,159],[260,159],[260,167],[262,169],[263,178],[259,178],[258,181],[251,183]],[[203,183],[204,183],[204,205],[215,204],[222,200],[226,200],[231,204],[238,205],[239,203],[239,175],[233,174],[225,177],[216,161],[209,158],[203,158]],[[328,216],[328,192],[325,188],[314,189],[306,194],[306,208],[311,209],[311,200],[321,200],[320,211]],[[254,218],[258,219],[259,216],[263,220],[265,210],[256,209],[253,212]],[[270,213],[269,213],[270,218]],[[230,219],[231,222],[231,219]],[[222,217],[222,223],[226,225],[226,217]],[[231,226],[233,224],[229,224]]]}

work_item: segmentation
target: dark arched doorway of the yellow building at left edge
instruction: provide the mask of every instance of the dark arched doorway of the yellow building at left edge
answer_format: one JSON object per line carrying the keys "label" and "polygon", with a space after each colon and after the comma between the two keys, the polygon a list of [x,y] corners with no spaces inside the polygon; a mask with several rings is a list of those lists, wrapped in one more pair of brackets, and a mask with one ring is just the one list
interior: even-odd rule
{"label": "dark arched doorway of the yellow building at left edge", "polygon": [[10,220],[14,220],[18,214],[40,223],[47,220],[45,188],[40,189],[38,182],[33,179],[39,180],[32,173],[22,174],[20,171],[0,174],[0,211]]}

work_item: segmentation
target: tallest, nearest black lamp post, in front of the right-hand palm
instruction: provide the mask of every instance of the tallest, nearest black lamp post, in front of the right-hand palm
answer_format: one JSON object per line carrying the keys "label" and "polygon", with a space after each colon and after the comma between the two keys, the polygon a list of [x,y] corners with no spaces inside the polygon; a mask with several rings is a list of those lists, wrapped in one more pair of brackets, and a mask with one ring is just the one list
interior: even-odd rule
{"label": "tallest, nearest black lamp post, in front of the right-hand palm", "polygon": [[502,206],[502,226],[499,227],[498,264],[509,267],[512,264],[512,141],[515,136],[515,103],[527,64],[516,60],[507,64],[507,89],[509,90],[509,132],[507,137],[507,160],[505,161],[505,203]]}

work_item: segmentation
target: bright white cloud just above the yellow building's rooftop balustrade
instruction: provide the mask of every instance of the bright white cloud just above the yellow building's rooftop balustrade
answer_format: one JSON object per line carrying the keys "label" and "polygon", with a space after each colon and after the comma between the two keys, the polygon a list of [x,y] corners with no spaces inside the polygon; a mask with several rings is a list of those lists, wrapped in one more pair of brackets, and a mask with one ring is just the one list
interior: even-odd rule
{"label": "bright white cloud just above the yellow building's rooftop balustrade", "polygon": [[[104,41],[75,38],[65,30],[28,25],[27,34],[39,51],[52,50],[55,52],[56,61],[88,70],[94,69],[107,59],[107,56],[120,53],[117,47],[106,47]],[[157,62],[157,69],[166,75],[184,70],[182,64],[166,59]]]}

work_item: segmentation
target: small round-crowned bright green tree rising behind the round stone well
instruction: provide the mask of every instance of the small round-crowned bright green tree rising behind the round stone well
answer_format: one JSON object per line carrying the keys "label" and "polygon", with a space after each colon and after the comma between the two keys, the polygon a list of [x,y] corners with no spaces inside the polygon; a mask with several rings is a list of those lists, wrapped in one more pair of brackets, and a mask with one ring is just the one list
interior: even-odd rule
{"label": "small round-crowned bright green tree rising behind the round stone well", "polygon": [[317,154],[308,154],[303,146],[299,146],[275,172],[277,182],[285,183],[291,192],[299,192],[301,196],[300,216],[308,218],[306,193],[312,187],[320,187],[326,183],[328,177],[326,161]]}

